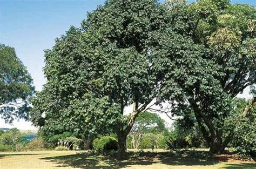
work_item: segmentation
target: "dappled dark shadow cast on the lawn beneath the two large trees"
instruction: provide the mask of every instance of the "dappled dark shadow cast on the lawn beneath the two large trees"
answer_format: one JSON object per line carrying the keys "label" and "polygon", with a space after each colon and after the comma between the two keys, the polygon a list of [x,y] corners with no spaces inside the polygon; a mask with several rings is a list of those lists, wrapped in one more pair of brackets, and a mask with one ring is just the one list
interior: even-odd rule
{"label": "dappled dark shadow cast on the lawn beneath the two large trees", "polygon": [[57,164],[57,167],[78,167],[78,168],[124,168],[133,167],[134,165],[187,165],[187,166],[207,166],[225,162],[228,159],[221,158],[191,158],[191,157],[173,157],[172,154],[165,153],[149,153],[140,157],[131,157],[129,160],[117,160],[114,157],[98,156],[91,154],[72,154],[68,156],[46,157],[41,158],[51,163]]}

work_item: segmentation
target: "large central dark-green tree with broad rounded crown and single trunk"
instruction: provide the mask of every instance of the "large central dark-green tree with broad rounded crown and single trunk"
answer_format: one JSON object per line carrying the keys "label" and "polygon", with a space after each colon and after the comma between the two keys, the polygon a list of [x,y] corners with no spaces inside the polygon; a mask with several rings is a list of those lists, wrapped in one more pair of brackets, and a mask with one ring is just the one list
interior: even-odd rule
{"label": "large central dark-green tree with broad rounded crown and single trunk", "polygon": [[[81,29],[58,38],[45,53],[48,82],[35,98],[33,123],[89,134],[112,125],[124,158],[134,120],[159,90],[146,41],[167,23],[166,11],[154,0],[107,1]],[[132,113],[124,116],[131,104]]]}

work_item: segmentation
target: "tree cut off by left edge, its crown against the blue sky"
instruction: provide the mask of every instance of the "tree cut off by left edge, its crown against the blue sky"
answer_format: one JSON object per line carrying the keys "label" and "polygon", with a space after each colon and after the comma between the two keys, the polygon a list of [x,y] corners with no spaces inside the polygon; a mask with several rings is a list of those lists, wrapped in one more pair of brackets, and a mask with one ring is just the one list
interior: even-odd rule
{"label": "tree cut off by left edge, its crown against the blue sky", "polygon": [[14,48],[0,44],[0,63],[0,115],[5,123],[27,119],[34,92],[32,78]]}

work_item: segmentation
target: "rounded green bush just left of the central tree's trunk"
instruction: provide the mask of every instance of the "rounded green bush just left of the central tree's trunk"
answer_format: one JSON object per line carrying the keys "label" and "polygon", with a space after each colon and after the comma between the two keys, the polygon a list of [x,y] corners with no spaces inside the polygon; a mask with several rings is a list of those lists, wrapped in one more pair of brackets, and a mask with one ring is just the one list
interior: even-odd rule
{"label": "rounded green bush just left of the central tree's trunk", "polygon": [[110,136],[103,136],[93,140],[93,149],[96,151],[117,150],[117,140]]}

